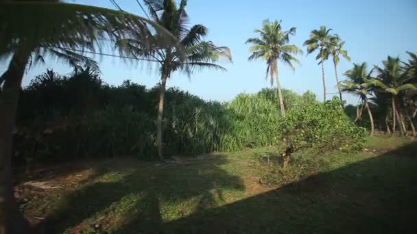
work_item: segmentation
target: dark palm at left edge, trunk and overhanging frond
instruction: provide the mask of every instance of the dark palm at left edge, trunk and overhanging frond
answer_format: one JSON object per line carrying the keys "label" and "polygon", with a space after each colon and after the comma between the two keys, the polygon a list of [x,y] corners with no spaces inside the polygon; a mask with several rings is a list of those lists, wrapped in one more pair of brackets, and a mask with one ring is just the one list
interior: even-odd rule
{"label": "dark palm at left edge, trunk and overhanging frond", "polygon": [[75,51],[99,49],[99,38],[116,40],[128,27],[144,28],[145,22],[126,12],[88,5],[0,1],[0,59],[10,57],[0,88],[0,233],[29,233],[12,192],[11,170],[12,129],[25,70],[45,56],[71,66],[96,66]]}

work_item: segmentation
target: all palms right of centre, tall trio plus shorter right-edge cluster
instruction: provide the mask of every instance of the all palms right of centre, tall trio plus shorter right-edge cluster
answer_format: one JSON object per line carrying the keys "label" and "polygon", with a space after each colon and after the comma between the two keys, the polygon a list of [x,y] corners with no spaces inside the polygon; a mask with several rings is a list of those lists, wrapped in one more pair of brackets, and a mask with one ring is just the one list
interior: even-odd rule
{"label": "all palms right of centre, tall trio plus shorter right-edge cluster", "polygon": [[[326,101],[326,81],[324,78],[324,61],[329,57],[333,60],[335,68],[335,78],[339,97],[342,100],[342,92],[350,92],[359,96],[361,104],[358,106],[357,118],[361,116],[363,109],[368,110],[371,122],[370,135],[374,133],[374,120],[368,99],[372,100],[374,106],[379,107],[385,113],[385,126],[388,133],[395,133],[398,122],[401,135],[407,135],[407,126],[412,129],[413,135],[416,135],[414,119],[417,115],[417,55],[407,52],[410,59],[408,62],[401,62],[399,57],[390,57],[383,61],[383,67],[374,66],[368,72],[367,64],[353,64],[351,70],[346,71],[344,75],[347,80],[339,81],[337,75],[337,64],[340,57],[350,61],[348,52],[343,48],[344,40],[339,35],[331,34],[332,29],[321,26],[320,29],[311,31],[308,40],[304,44],[307,46],[307,55],[318,51],[315,59],[322,66],[323,98]],[[271,86],[274,79],[278,91],[278,107],[281,115],[285,116],[285,107],[281,84],[278,76],[278,61],[288,65],[294,70],[293,63],[300,64],[294,55],[302,54],[303,51],[298,49],[295,44],[289,44],[289,36],[296,34],[296,28],[284,31],[281,27],[281,21],[264,21],[261,29],[255,29],[259,38],[250,38],[246,43],[252,44],[248,60],[262,59],[266,61],[267,79],[270,77]],[[372,77],[372,74],[376,75]],[[392,121],[390,122],[390,119]],[[405,124],[408,120],[408,125]],[[391,126],[390,126],[391,125]]]}

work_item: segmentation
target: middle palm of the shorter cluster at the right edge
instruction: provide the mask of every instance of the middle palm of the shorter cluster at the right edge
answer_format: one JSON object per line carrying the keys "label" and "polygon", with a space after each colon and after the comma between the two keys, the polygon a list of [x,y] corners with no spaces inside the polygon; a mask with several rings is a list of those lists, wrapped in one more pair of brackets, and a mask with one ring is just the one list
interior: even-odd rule
{"label": "middle palm of the shorter cluster at the right edge", "polygon": [[[370,79],[365,83],[365,86],[374,86],[380,92],[386,92],[391,96],[391,110],[392,110],[392,133],[395,133],[396,120],[400,124],[401,133],[406,132],[403,122],[401,122],[401,112],[396,109],[396,97],[398,94],[407,90],[417,90],[414,84],[409,83],[410,77],[403,73],[401,68],[401,61],[399,57],[388,56],[387,60],[383,62],[383,68],[375,66],[377,70],[377,78]],[[401,126],[402,125],[402,126]]]}

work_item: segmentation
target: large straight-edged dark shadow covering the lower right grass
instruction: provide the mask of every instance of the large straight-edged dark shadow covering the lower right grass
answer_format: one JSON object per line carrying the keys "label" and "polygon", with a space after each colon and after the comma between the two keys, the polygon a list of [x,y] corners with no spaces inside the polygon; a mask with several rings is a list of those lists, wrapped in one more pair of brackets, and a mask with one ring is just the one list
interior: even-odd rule
{"label": "large straight-edged dark shadow covering the lower right grass", "polygon": [[[163,224],[164,233],[417,233],[417,142]],[[135,233],[130,225],[120,233]]]}

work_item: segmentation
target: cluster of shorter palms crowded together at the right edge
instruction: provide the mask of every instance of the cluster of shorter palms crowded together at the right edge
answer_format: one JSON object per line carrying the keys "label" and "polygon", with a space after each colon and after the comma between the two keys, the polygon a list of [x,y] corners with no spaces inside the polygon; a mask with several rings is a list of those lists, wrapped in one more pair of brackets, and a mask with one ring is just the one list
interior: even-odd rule
{"label": "cluster of shorter palms crowded together at the right edge", "polygon": [[402,62],[399,57],[388,56],[387,60],[383,60],[383,66],[374,66],[371,70],[368,70],[365,62],[353,64],[353,68],[344,74],[348,79],[337,86],[342,92],[359,96],[361,104],[358,105],[357,118],[364,108],[368,110],[370,135],[374,133],[374,119],[369,104],[372,101],[380,113],[385,113],[387,133],[395,133],[398,127],[400,135],[407,135],[407,129],[410,128],[416,136],[417,55],[412,52],[407,54],[407,62]]}

